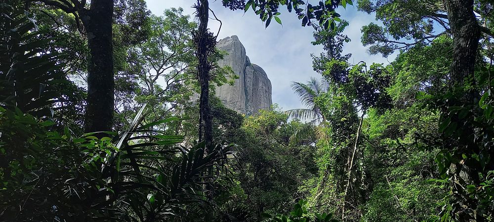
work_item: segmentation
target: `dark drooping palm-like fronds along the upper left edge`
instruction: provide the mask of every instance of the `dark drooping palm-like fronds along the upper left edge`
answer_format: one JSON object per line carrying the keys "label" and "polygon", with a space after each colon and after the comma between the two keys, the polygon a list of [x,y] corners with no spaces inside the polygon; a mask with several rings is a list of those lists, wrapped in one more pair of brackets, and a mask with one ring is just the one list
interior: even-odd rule
{"label": "dark drooping palm-like fronds along the upper left edge", "polygon": [[[52,116],[54,98],[63,97],[70,82],[57,60],[63,57],[45,47],[55,38],[44,38],[19,5],[0,5],[1,26],[1,105],[18,107],[39,116]],[[27,14],[27,12],[26,12]],[[27,14],[29,15],[29,14]]]}

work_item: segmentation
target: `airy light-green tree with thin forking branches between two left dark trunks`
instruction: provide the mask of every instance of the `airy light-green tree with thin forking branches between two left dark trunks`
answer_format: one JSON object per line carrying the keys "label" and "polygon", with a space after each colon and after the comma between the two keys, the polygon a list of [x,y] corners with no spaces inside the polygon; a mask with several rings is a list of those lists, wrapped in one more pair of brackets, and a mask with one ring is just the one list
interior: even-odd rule
{"label": "airy light-green tree with thin forking branches between two left dark trunks", "polygon": [[[192,32],[197,28],[190,17],[183,15],[182,8],[165,10],[163,16],[149,18],[147,39],[126,49],[129,75],[135,75],[137,87],[130,101],[124,101],[117,110],[122,119],[142,104],[152,107],[147,113],[147,122],[158,121],[187,106],[195,92],[195,76],[192,70],[197,65],[192,45]],[[132,102],[137,104],[126,107]]]}

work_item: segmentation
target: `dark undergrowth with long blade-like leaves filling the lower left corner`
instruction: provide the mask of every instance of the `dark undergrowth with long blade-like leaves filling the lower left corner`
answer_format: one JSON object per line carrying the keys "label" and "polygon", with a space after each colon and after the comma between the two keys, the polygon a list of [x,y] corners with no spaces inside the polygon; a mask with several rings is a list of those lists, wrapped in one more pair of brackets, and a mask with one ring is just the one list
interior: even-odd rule
{"label": "dark undergrowth with long blade-like leaves filling the lower left corner", "polygon": [[115,139],[98,139],[93,134],[73,137],[68,128],[63,135],[48,131],[53,122],[20,110],[2,109],[1,118],[1,155],[6,160],[1,166],[1,217],[11,220],[180,217],[181,204],[202,205],[203,173],[211,165],[222,169],[232,150],[204,144],[175,148],[180,137],[146,131],[159,122]]}

